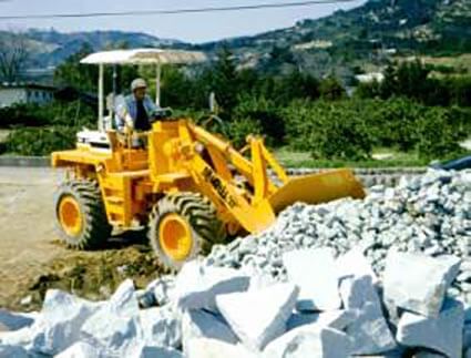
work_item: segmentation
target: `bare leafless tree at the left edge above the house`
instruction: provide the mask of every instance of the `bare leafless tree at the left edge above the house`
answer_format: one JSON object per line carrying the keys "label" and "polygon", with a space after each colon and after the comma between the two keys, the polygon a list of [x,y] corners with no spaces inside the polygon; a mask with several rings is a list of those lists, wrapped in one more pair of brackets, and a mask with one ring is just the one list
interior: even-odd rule
{"label": "bare leafless tree at the left edge above the house", "polygon": [[0,79],[7,82],[18,81],[29,57],[28,41],[22,33],[0,34]]}

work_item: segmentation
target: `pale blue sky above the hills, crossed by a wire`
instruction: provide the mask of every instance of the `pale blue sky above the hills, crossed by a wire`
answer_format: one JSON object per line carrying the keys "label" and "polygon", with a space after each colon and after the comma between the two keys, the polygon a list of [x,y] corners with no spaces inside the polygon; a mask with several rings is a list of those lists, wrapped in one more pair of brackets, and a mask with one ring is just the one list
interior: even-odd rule
{"label": "pale blue sky above the hills, crossed by a wire", "polygon": [[[296,1],[299,0],[139,0],[134,2],[122,0],[0,0],[0,17],[195,9]],[[365,2],[365,0],[355,0],[348,3],[315,4],[299,8],[149,17],[0,20],[0,29],[21,31],[28,28],[54,28],[61,32],[139,31],[160,38],[201,43],[287,28],[294,25],[298,20],[325,17],[336,10],[351,9]]]}

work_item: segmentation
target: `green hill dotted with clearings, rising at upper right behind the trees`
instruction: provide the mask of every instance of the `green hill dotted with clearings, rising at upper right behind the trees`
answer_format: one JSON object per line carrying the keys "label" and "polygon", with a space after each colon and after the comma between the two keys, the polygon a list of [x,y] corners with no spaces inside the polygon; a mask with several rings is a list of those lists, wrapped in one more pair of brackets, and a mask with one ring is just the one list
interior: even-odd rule
{"label": "green hill dotted with clearings, rising at upper right behind the trees", "polygon": [[[471,1],[370,0],[349,11],[225,43],[243,67],[274,73],[297,68],[347,79],[393,57],[471,52]],[[199,49],[219,45],[212,42]]]}

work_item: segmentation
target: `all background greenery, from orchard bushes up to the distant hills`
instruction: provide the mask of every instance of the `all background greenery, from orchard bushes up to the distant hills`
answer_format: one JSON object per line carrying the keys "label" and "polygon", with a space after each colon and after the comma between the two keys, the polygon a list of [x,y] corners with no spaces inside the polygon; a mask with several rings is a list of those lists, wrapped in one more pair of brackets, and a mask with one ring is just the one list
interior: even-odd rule
{"label": "all background greenery, from orchard bushes up to the distant hills", "polygon": [[[293,28],[201,45],[115,31],[24,35],[30,47],[47,44],[34,59],[58,64],[54,83],[82,93],[96,91],[96,68],[79,64],[90,52],[145,45],[206,51],[212,61],[205,64],[164,69],[162,103],[204,123],[215,92],[223,124],[209,130],[237,147],[253,133],[273,149],[316,161],[369,162],[380,149],[426,164],[465,153],[459,143],[471,133],[470,23],[468,0],[370,0]],[[355,74],[373,70],[383,72],[381,83],[356,81]],[[109,93],[111,69],[105,75]],[[119,69],[117,91],[137,75],[155,91],[154,73],[132,67]],[[94,112],[81,101],[0,110],[0,126],[28,127],[13,127],[0,151],[42,155],[72,147],[74,132],[94,125]]]}

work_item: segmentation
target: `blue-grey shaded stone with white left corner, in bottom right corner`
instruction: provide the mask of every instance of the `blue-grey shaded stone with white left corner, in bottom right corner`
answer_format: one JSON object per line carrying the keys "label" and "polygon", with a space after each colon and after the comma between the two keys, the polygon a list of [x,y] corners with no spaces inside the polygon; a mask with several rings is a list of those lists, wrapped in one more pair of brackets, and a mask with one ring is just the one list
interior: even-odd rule
{"label": "blue-grey shaded stone with white left corner, in bottom right corner", "polygon": [[408,347],[424,347],[450,358],[461,357],[463,304],[448,298],[438,317],[405,313],[398,325],[397,339]]}

